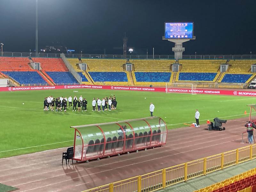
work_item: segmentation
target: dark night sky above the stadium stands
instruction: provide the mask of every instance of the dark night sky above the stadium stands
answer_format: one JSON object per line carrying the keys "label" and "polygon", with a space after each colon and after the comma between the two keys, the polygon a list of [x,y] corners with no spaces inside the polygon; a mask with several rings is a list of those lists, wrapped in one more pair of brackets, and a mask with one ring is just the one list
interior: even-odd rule
{"label": "dark night sky above the stadium stands", "polygon": [[[35,49],[35,0],[0,0],[4,51]],[[39,49],[61,42],[83,53],[174,54],[164,22],[194,22],[184,54],[256,54],[256,1],[38,0]]]}

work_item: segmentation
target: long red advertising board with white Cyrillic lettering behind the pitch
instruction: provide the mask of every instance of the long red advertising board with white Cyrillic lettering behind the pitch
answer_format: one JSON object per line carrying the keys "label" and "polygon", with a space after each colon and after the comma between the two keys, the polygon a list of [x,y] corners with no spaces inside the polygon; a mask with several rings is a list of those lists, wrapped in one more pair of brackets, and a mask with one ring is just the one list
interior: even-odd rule
{"label": "long red advertising board with white Cyrillic lettering behind the pitch", "polygon": [[[0,87],[0,91],[28,91],[28,90],[50,90],[50,89],[112,89],[112,90],[126,90],[126,91],[165,92],[165,87],[136,87],[136,86],[111,86],[111,85],[55,85],[55,86],[49,85],[49,86]],[[168,88],[167,92],[191,94],[191,89]],[[256,92],[254,91],[197,89],[197,90],[193,90],[193,92],[195,92],[196,94],[256,96]]]}

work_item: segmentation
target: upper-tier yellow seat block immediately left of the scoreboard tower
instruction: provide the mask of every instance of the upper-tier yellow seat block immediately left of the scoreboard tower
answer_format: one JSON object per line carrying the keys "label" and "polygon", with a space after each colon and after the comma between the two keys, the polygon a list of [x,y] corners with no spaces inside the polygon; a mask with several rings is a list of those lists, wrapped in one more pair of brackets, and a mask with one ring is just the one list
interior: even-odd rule
{"label": "upper-tier yellow seat block immediately left of the scoreboard tower", "polygon": [[132,59],[130,63],[134,64],[136,72],[170,72],[171,64],[175,63],[175,60]]}

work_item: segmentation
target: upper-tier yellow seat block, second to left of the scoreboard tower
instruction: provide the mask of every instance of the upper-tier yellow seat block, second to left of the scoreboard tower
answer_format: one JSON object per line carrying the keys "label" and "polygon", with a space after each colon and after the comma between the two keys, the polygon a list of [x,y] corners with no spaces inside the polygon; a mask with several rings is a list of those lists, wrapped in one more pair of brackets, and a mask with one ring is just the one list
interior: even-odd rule
{"label": "upper-tier yellow seat block, second to left of the scoreboard tower", "polygon": [[81,59],[88,71],[124,71],[124,59]]}

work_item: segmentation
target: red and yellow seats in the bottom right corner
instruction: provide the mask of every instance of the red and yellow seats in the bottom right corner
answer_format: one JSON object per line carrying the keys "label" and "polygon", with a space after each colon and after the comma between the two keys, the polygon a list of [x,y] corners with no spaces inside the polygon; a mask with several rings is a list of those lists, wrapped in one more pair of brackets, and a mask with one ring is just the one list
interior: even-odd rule
{"label": "red and yellow seats in the bottom right corner", "polygon": [[256,168],[194,192],[256,192]]}

